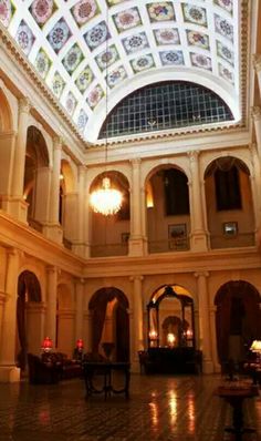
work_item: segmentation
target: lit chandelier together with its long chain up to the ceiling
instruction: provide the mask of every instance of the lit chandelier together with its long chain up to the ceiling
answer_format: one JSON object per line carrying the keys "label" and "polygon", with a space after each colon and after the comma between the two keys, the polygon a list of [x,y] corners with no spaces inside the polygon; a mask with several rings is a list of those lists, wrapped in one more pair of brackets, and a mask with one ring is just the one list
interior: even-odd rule
{"label": "lit chandelier together with its long chain up to the ceiling", "polygon": [[[108,7],[106,11],[106,22],[108,24]],[[106,53],[108,52],[108,37],[106,37]],[[106,62],[106,75],[105,79],[108,78],[108,63]],[[105,93],[105,122],[108,115],[108,85],[106,81],[106,93]],[[105,167],[107,164],[107,125],[106,125],[106,136],[105,136]],[[106,170],[106,168],[105,168]],[[112,175],[112,173],[109,173]],[[116,214],[123,203],[123,195],[122,193],[116,189],[112,188],[111,186],[111,178],[108,175],[103,177],[102,185],[94,189],[91,193],[90,198],[91,206],[95,213],[101,213],[104,216],[109,216]]]}

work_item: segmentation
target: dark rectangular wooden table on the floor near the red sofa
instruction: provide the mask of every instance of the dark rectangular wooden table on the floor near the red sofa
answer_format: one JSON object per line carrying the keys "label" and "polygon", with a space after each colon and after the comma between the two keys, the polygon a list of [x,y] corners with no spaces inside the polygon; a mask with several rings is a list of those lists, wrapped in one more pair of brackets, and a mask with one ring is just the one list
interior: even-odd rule
{"label": "dark rectangular wooden table on the floor near the red sofa", "polygon": [[[129,397],[129,378],[130,378],[129,362],[85,362],[83,363],[83,373],[86,387],[86,397],[93,393],[104,393],[105,399],[112,393],[124,393],[125,398]],[[113,386],[113,371],[118,371],[124,375],[123,388],[116,389]],[[94,380],[102,377],[102,386],[97,388],[94,386]]]}

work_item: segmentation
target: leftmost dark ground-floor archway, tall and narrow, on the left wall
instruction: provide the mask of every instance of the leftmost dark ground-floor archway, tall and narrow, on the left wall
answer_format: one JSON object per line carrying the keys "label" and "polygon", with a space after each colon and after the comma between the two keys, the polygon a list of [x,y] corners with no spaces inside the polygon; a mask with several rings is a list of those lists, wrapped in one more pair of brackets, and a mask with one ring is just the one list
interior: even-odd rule
{"label": "leftmost dark ground-floor archway, tall and narrow, on the left wall", "polygon": [[41,347],[41,286],[29,270],[20,274],[17,298],[17,362],[25,369],[28,352],[38,353]]}

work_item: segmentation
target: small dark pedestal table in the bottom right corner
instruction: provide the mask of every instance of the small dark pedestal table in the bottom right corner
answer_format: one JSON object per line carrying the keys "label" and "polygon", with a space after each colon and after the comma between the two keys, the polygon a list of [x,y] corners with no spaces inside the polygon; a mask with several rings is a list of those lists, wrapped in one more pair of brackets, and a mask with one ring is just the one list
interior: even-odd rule
{"label": "small dark pedestal table in the bottom right corner", "polygon": [[232,408],[233,425],[225,428],[225,430],[234,434],[234,441],[241,441],[243,433],[255,432],[255,429],[244,428],[243,425],[243,400],[257,397],[259,394],[257,387],[247,384],[220,386],[215,393],[229,402]]}

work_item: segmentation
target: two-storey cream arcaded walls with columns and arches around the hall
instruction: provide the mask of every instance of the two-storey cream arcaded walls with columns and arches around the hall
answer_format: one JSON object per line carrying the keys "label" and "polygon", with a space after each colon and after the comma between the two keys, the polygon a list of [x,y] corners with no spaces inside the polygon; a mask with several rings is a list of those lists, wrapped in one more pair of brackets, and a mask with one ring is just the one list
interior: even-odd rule
{"label": "two-storey cream arcaded walls with columns and arches around the hall", "polygon": [[[192,317],[181,322],[180,307],[166,299],[159,343],[167,346],[171,332],[178,346],[181,327],[192,328],[203,372],[242,360],[261,338],[255,16],[247,57],[254,62],[242,68],[248,81],[238,92],[242,120],[108,140],[106,164],[104,143],[83,140],[0,27],[1,42],[9,42],[0,44],[0,381],[19,381],[27,355],[40,355],[45,336],[69,357],[79,338],[86,352],[113,343],[113,359],[129,360],[138,372],[147,306],[163,287],[186,295]],[[161,81],[171,80],[169,72],[161,69]],[[202,84],[200,74],[194,68],[195,83]],[[140,78],[153,83],[146,72]],[[124,196],[108,217],[90,206],[105,172]]]}

